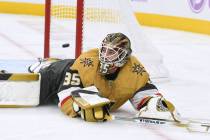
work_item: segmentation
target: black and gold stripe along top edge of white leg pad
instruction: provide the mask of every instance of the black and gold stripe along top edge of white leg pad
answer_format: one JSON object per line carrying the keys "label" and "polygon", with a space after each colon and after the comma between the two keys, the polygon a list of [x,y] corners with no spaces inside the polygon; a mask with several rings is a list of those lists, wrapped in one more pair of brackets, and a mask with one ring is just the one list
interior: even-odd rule
{"label": "black and gold stripe along top edge of white leg pad", "polygon": [[39,74],[34,73],[1,73],[0,80],[9,81],[37,81]]}

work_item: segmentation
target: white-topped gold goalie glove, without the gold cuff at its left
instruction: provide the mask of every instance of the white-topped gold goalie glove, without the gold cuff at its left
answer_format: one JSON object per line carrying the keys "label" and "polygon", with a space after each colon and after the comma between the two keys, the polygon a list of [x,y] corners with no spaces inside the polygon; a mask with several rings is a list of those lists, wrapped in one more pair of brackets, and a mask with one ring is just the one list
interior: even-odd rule
{"label": "white-topped gold goalie glove, without the gold cuff at its left", "polygon": [[109,113],[112,102],[98,96],[96,87],[91,86],[72,92],[73,108],[82,119],[88,122],[112,120]]}

